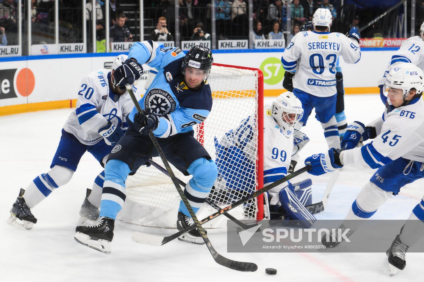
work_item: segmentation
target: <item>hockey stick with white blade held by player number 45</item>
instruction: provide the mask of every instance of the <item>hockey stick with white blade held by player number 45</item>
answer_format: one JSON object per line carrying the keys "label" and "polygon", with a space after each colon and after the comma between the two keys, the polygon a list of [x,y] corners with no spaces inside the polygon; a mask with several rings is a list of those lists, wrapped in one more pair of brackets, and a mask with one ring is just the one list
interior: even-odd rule
{"label": "hockey stick with white blade held by player number 45", "polygon": [[[309,170],[310,168],[311,168],[311,166],[305,166],[305,167],[293,172],[292,174],[287,175],[286,177],[282,177],[279,180],[271,183],[270,185],[265,186],[262,189],[254,192],[254,193],[252,193],[248,196],[245,196],[244,198],[238,200],[237,202],[234,202],[233,204],[220,209],[218,212],[213,213],[212,215],[202,219],[200,223],[204,224],[204,223],[208,222],[209,220],[211,220],[211,219],[213,219],[217,216],[220,216],[223,213],[227,213],[229,210],[232,210],[234,207],[238,207],[239,205],[242,205],[243,203],[247,202],[248,200],[250,200],[254,197],[257,197],[257,196],[265,193],[266,191],[271,190],[272,188],[286,182],[287,180],[290,180],[290,179],[298,176],[299,174],[304,173],[305,171]],[[161,245],[164,245],[164,244],[174,240],[175,238],[178,238],[180,235],[184,234],[185,232],[189,232],[189,231],[191,231],[192,229],[195,229],[195,228],[196,227],[194,225],[190,225],[189,227],[186,227],[185,229],[183,229],[179,232],[176,232],[173,235],[169,235],[169,236],[165,236],[165,237],[139,233],[138,234],[139,238],[138,238],[137,242],[142,243],[142,244],[153,245],[153,246],[161,246]]]}

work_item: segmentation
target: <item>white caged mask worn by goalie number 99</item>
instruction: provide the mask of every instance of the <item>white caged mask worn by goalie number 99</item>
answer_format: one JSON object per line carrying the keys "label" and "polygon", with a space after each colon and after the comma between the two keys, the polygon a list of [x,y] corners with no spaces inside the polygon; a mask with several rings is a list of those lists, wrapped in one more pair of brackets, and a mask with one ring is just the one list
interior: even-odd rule
{"label": "white caged mask worn by goalie number 99", "polygon": [[303,116],[302,102],[293,92],[284,92],[272,102],[271,116],[281,127],[293,127]]}

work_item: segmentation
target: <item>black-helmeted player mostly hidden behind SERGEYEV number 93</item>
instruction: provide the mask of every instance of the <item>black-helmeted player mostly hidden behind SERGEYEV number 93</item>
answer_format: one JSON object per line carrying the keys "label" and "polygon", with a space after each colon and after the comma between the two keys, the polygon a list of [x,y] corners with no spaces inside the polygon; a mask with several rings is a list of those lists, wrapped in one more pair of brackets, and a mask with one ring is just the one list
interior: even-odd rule
{"label": "black-helmeted player mostly hidden behind SERGEYEV number 93", "polygon": [[[313,31],[314,24],[313,22],[305,22],[301,25],[299,31]],[[296,69],[284,73],[283,87],[290,92],[293,92],[293,77],[296,73]],[[343,74],[340,66],[336,66],[336,90],[337,90],[337,100],[336,100],[336,112],[335,118],[337,122],[337,129],[339,131],[340,138],[343,138],[344,133],[347,128],[347,120],[344,113],[344,87],[343,87]],[[292,173],[296,167],[299,155],[296,153],[293,155],[290,168],[288,172]]]}

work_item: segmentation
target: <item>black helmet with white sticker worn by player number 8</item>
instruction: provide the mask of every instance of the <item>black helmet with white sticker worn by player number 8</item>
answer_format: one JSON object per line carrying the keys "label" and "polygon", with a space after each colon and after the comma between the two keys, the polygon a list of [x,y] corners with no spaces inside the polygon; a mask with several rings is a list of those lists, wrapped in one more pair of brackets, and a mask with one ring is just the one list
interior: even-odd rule
{"label": "black helmet with white sticker worn by player number 8", "polygon": [[185,69],[187,66],[190,66],[194,69],[204,70],[204,79],[206,79],[209,75],[212,64],[212,51],[207,47],[196,45],[194,47],[191,47],[190,50],[186,53],[184,60],[181,64],[181,73],[183,75],[186,75]]}

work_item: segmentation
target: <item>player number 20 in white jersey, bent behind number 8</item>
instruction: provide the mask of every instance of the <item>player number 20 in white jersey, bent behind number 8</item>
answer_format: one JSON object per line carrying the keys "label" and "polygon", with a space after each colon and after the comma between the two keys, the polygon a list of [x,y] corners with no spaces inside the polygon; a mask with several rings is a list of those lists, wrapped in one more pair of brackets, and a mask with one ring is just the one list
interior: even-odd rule
{"label": "player number 20 in white jersey, bent behind number 8", "polygon": [[[25,190],[21,188],[10,210],[9,224],[33,228],[37,218],[31,208],[71,180],[86,151],[104,166],[114,144],[127,129],[126,116],[133,108],[126,88],[118,88],[114,81],[114,70],[126,59],[127,55],[119,55],[114,59],[112,69],[100,69],[83,78],[76,109],[63,126],[50,171],[35,177]],[[80,210],[82,217],[98,218],[103,181],[104,171],[95,178],[92,190],[87,189]]]}

